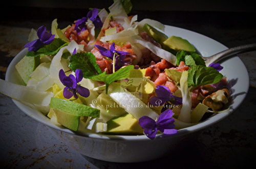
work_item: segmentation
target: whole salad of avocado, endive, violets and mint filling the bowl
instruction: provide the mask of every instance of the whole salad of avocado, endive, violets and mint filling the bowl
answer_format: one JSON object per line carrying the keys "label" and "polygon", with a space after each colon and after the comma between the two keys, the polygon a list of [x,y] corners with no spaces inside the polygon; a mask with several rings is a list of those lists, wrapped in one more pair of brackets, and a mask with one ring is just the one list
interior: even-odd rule
{"label": "whole salad of avocado, endive, violets and mint filling the bowl", "polygon": [[32,29],[15,64],[22,84],[0,91],[59,128],[102,135],[176,135],[228,109],[231,88],[219,63],[167,36],[165,25],[129,15],[131,3],[91,9],[66,28]]}

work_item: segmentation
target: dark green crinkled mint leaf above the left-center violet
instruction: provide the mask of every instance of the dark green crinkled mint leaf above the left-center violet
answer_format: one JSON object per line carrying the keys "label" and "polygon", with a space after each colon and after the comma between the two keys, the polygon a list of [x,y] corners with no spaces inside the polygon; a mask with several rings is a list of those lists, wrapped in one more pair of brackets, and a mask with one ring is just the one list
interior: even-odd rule
{"label": "dark green crinkled mint leaf above the left-center violet", "polygon": [[73,71],[81,69],[83,78],[87,79],[91,79],[94,76],[102,74],[102,71],[96,62],[96,58],[91,52],[80,52],[71,55],[69,67]]}

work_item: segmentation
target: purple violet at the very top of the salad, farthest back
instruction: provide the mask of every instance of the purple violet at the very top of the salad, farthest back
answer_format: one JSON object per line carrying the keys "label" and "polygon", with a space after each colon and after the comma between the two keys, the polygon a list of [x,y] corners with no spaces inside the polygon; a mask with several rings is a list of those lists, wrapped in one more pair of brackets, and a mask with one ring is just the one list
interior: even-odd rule
{"label": "purple violet at the very top of the salad, farthest back", "polygon": [[81,19],[77,19],[75,22],[75,30],[79,34],[81,31],[87,30],[86,22],[91,20],[95,26],[95,28],[102,27],[103,23],[101,22],[100,18],[97,18],[99,10],[94,8],[90,10],[87,14],[87,17],[82,17]]}

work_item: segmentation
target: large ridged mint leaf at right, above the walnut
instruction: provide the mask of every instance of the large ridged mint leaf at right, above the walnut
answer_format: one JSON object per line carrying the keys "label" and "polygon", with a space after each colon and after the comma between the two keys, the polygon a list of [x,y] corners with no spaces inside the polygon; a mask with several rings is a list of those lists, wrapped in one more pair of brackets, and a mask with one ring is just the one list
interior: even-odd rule
{"label": "large ridged mint leaf at right, above the walnut", "polygon": [[190,91],[198,86],[218,83],[223,78],[223,75],[213,67],[197,65],[191,66],[187,71],[187,85],[193,86]]}

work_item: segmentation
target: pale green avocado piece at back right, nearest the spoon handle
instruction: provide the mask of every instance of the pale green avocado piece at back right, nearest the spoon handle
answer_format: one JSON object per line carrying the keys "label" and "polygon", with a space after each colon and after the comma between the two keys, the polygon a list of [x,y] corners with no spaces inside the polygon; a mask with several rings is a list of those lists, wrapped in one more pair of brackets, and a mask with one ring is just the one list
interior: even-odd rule
{"label": "pale green avocado piece at back right, nearest the spoon handle", "polygon": [[178,36],[171,36],[163,42],[165,46],[168,46],[170,49],[175,51],[187,51],[187,52],[196,52],[195,47],[189,43],[186,39],[182,39]]}

